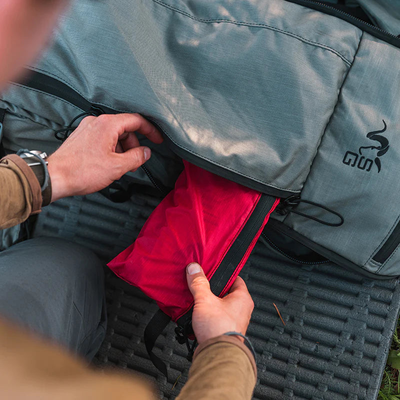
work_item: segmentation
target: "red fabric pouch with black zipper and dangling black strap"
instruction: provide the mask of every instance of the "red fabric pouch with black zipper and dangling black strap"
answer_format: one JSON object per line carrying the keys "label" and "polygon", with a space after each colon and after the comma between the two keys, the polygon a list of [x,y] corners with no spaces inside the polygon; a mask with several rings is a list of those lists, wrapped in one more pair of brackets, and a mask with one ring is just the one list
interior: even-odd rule
{"label": "red fabric pouch with black zipper and dangling black strap", "polygon": [[[132,245],[108,263],[112,271],[153,298],[160,311],[145,329],[150,359],[168,321],[179,342],[191,331],[193,297],[185,267],[198,262],[213,293],[222,297],[247,260],[279,199],[224,179],[189,162],[175,188],[154,209]],[[189,348],[189,347],[188,347]]]}

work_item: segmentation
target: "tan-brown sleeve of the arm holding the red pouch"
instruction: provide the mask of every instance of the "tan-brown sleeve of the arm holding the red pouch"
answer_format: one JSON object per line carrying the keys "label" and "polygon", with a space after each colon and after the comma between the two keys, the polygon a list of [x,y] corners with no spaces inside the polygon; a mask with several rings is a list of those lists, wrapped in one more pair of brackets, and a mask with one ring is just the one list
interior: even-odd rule
{"label": "tan-brown sleeve of the arm holding the red pouch", "polygon": [[176,400],[246,400],[255,385],[251,352],[234,337],[219,336],[196,350],[189,378]]}

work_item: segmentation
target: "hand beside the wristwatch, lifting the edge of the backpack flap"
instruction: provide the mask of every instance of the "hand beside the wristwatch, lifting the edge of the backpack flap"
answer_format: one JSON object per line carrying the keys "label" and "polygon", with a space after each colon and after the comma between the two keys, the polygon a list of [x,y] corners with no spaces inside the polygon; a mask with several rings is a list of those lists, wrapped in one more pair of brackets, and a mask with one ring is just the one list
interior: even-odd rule
{"label": "hand beside the wristwatch, lifting the edge of the backpack flap", "polygon": [[139,146],[135,131],[154,143],[161,133],[139,114],[87,116],[48,157],[51,201],[103,189],[127,171],[135,171],[150,158]]}

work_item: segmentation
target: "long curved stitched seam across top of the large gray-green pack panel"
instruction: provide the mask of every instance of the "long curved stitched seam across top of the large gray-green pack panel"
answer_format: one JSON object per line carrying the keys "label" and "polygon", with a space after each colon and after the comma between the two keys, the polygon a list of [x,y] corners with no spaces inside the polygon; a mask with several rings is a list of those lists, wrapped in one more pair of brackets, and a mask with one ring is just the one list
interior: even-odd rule
{"label": "long curved stitched seam across top of the large gray-green pack panel", "polygon": [[189,14],[188,12],[183,11],[183,10],[181,10],[179,8],[176,8],[173,5],[164,3],[163,1],[160,1],[160,0],[152,0],[152,1],[157,3],[157,4],[159,4],[159,5],[161,5],[161,6],[163,6],[163,7],[165,7],[165,8],[169,8],[170,10],[173,10],[173,11],[176,11],[176,12],[182,14],[182,15],[185,15],[185,16],[187,16],[187,17],[189,17],[189,18],[191,18],[191,19],[193,19],[195,21],[198,21],[198,22],[204,22],[204,23],[221,23],[221,22],[223,23],[224,22],[224,23],[232,23],[232,24],[235,24],[235,25],[242,25],[242,26],[249,26],[249,27],[259,27],[259,28],[266,28],[266,29],[270,29],[270,30],[275,30],[277,32],[284,33],[284,34],[287,34],[289,36],[295,37],[295,38],[297,38],[297,39],[299,39],[301,41],[304,41],[306,43],[314,44],[314,45],[316,45],[318,47],[325,48],[326,50],[331,51],[334,54],[336,54],[337,56],[339,56],[348,65],[351,65],[351,62],[343,54],[341,54],[339,51],[335,50],[334,48],[329,47],[326,44],[318,43],[317,41],[312,41],[312,40],[306,39],[305,37],[302,37],[302,36],[297,35],[295,33],[292,33],[292,32],[289,32],[289,31],[286,31],[286,30],[283,30],[283,29],[276,28],[274,26],[270,26],[270,25],[263,24],[263,23],[236,21],[236,20],[231,20],[231,19],[202,19],[202,18],[197,18],[194,15]]}

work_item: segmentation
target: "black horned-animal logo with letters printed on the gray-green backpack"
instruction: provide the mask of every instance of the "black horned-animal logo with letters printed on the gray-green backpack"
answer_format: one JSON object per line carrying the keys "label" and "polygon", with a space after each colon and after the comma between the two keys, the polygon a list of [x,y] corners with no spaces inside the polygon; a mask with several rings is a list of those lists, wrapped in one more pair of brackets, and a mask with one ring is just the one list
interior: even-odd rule
{"label": "black horned-animal logo with letters printed on the gray-green backpack", "polygon": [[[371,146],[361,146],[358,149],[358,153],[355,153],[353,151],[346,151],[343,157],[343,164],[350,165],[350,166],[355,166],[357,165],[358,169],[365,169],[366,171],[370,171],[372,168],[373,163],[375,163],[378,173],[380,172],[380,169],[382,167],[380,158],[383,154],[386,153],[386,151],[389,149],[389,141],[384,137],[383,135],[379,133],[383,133],[386,130],[386,122],[382,119],[383,122],[383,129],[381,130],[374,130],[372,132],[368,132],[366,134],[366,137],[371,140],[375,140],[379,143],[379,145],[371,145]],[[377,150],[375,154],[374,160],[371,158],[365,158],[364,155],[362,155],[362,151],[366,149],[372,149],[372,150]],[[358,162],[357,162],[358,161]]]}

